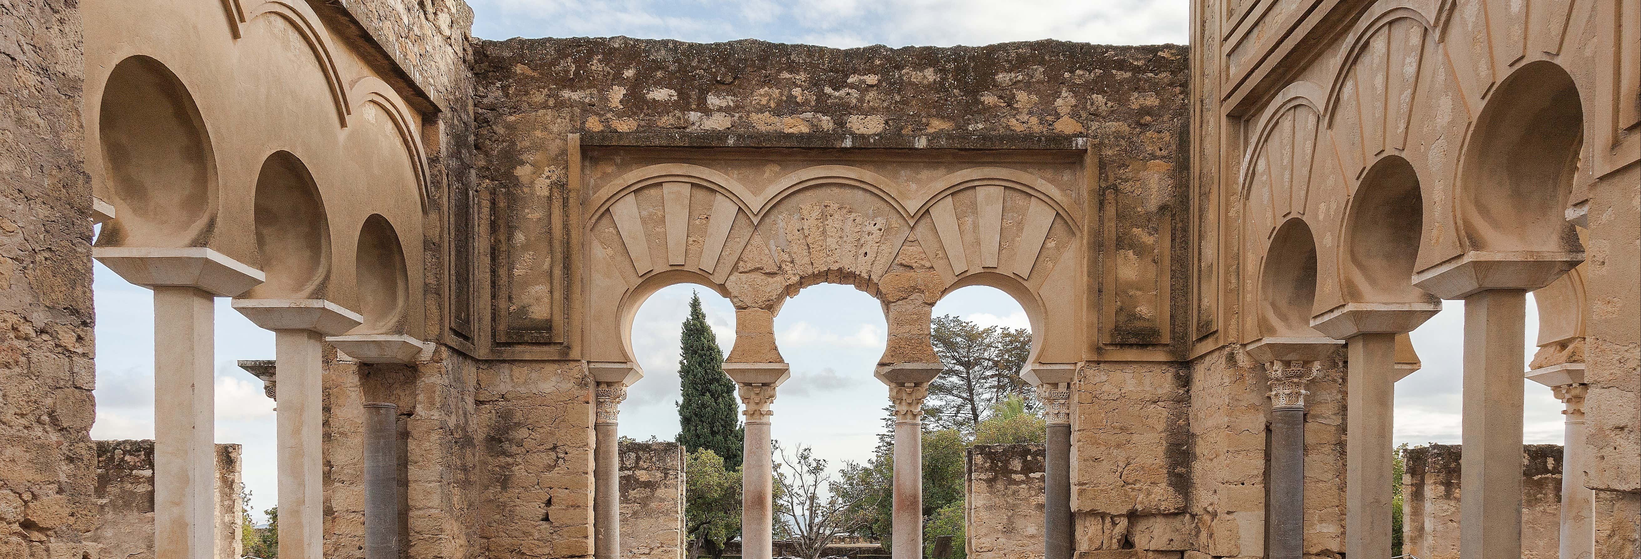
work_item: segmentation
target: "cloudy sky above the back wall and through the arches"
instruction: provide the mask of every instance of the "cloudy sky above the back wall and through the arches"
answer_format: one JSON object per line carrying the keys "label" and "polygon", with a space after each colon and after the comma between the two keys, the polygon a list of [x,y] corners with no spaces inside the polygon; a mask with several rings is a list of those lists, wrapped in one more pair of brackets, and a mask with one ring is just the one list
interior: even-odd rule
{"label": "cloudy sky above the back wall and through the arches", "polygon": [[[758,38],[837,48],[991,44],[1067,39],[1111,44],[1185,43],[1186,2],[1168,0],[469,0],[474,34],[612,36],[732,41]],[[153,303],[146,289],[97,266],[98,439],[153,438]],[[645,369],[622,405],[622,433],[637,439],[678,434],[678,334],[693,289],[655,293],[638,311],[633,348]],[[734,344],[729,302],[704,293],[706,311],[725,352]],[[1026,326],[1008,295],[986,287],[958,290],[935,307],[985,325]],[[1462,303],[1415,333],[1424,369],[1396,384],[1396,443],[1457,443],[1460,408]],[[1536,315],[1529,307],[1528,339]],[[863,461],[881,426],[888,395],[871,377],[883,354],[878,303],[852,287],[816,285],[776,318],[781,352],[793,379],[776,400],[775,438],[811,444],[834,461]],[[1523,341],[1523,348],[1529,348]],[[1526,354],[1526,352],[1524,352]],[[228,308],[217,307],[217,441],[245,444],[245,479],[256,516],[276,503],[274,402],[238,359],[272,359],[274,338]],[[1524,361],[1524,359],[1523,359]],[[1528,443],[1561,443],[1561,403],[1549,389],[1528,385]]]}

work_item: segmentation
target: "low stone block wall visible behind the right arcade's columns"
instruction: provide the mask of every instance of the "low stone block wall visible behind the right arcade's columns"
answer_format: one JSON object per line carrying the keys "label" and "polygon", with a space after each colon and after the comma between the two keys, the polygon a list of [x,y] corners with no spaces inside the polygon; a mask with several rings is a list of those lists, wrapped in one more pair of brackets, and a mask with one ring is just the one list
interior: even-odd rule
{"label": "low stone block wall visible behind the right arcade's columns", "polygon": [[[1459,444],[1429,444],[1403,454],[1401,552],[1459,557]],[[1521,557],[1554,559],[1561,541],[1559,444],[1528,444],[1521,469]]]}

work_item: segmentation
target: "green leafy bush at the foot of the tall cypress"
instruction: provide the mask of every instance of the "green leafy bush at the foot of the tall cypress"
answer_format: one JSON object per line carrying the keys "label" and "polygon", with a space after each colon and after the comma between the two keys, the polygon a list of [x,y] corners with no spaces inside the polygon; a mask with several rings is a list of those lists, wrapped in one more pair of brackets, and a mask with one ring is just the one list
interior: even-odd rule
{"label": "green leafy bush at the foot of the tall cypress", "polygon": [[684,523],[696,552],[724,557],[724,544],[740,534],[740,469],[725,469],[712,449],[684,457]]}

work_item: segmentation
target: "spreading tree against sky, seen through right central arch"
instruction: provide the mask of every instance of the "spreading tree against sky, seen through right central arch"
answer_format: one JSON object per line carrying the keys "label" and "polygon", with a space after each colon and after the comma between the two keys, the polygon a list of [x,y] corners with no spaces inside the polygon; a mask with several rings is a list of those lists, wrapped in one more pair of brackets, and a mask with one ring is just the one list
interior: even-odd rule
{"label": "spreading tree against sky, seen through right central arch", "polygon": [[[929,384],[924,400],[926,421],[935,428],[973,433],[993,403],[1011,393],[1031,393],[1019,377],[1031,359],[1031,331],[1026,328],[980,328],[945,315],[934,320],[930,341],[945,372]],[[1032,407],[1027,402],[1027,407]]]}

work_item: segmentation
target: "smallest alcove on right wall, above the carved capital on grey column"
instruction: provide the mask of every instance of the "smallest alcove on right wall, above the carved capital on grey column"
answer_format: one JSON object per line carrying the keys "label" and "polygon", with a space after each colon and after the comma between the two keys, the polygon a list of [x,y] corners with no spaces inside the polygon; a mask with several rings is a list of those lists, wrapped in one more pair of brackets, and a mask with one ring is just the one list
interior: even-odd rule
{"label": "smallest alcove on right wall, above the carved capital on grey column", "polygon": [[1316,302],[1316,241],[1305,220],[1288,220],[1270,239],[1260,274],[1259,300],[1262,336],[1319,336],[1311,328],[1311,307]]}

